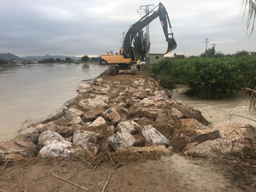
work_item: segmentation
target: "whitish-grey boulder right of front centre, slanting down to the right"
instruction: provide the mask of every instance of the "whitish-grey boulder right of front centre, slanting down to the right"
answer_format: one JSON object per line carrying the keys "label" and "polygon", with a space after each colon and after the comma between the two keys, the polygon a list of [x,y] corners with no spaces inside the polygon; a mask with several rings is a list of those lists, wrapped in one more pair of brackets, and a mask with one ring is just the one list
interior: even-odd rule
{"label": "whitish-grey boulder right of front centre, slanting down to the right", "polygon": [[151,125],[144,126],[142,135],[150,145],[168,146],[170,141]]}

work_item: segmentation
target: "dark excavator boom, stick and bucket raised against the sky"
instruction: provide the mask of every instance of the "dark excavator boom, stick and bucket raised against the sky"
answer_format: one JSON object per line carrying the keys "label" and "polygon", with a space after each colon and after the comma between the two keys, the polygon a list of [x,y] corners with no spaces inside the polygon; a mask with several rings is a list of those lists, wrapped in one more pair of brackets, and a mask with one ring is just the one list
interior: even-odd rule
{"label": "dark excavator boom, stick and bucket raised against the sky", "polygon": [[[154,11],[157,7],[158,7],[158,10]],[[173,33],[168,34],[168,24],[169,24],[170,30],[172,31],[172,26],[170,24],[168,13],[166,12],[166,8],[164,7],[164,5],[160,2],[158,6],[156,6],[153,10],[151,10],[148,14],[146,14],[140,20],[138,20],[138,22],[130,26],[130,29],[126,33],[126,36],[124,39],[124,51],[123,51],[124,58],[128,58],[132,56],[132,40],[136,36],[136,34],[158,16],[162,24],[162,28],[164,30],[166,41],[168,42],[168,49],[165,54],[176,49],[177,44],[173,38]],[[169,35],[172,35],[172,37],[169,38]]]}

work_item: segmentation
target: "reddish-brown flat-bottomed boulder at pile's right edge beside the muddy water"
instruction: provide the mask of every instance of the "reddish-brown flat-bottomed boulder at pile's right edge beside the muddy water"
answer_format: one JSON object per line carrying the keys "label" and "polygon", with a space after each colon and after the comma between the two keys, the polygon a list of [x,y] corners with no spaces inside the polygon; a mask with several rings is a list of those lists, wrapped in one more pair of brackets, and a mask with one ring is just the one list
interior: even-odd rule
{"label": "reddish-brown flat-bottomed boulder at pile's right edge beside the muddy water", "polygon": [[207,129],[208,127],[204,126],[196,119],[181,119],[174,123],[174,129]]}

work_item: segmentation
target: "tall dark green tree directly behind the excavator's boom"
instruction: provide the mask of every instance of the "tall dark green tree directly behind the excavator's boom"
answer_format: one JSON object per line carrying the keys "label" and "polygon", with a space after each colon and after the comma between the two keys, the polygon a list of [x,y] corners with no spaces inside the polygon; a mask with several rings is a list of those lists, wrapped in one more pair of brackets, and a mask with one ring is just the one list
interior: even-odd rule
{"label": "tall dark green tree directly behind the excavator's boom", "polygon": [[[144,60],[146,58],[146,34],[143,33],[143,30],[134,37],[133,46],[138,58]],[[150,48],[150,42],[148,42],[148,47]]]}

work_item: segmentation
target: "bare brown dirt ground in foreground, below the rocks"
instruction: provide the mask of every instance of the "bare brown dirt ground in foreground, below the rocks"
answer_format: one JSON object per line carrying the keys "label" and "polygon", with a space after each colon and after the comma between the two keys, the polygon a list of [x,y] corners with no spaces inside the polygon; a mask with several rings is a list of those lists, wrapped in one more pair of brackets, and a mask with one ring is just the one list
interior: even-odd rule
{"label": "bare brown dirt ground in foreground, below the rocks", "polygon": [[[0,190],[86,191],[52,176],[55,175],[89,191],[101,192],[108,176],[113,172],[106,192],[255,191],[255,175],[248,175],[246,169],[242,170],[244,176],[237,178],[237,171],[232,164],[206,159],[190,161],[178,154],[163,156],[160,160],[128,163],[117,169],[112,165],[103,164],[94,171],[80,160],[30,159],[8,167],[0,174]],[[250,184],[241,183],[243,177],[248,178],[247,182]]]}

